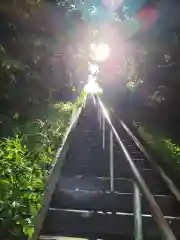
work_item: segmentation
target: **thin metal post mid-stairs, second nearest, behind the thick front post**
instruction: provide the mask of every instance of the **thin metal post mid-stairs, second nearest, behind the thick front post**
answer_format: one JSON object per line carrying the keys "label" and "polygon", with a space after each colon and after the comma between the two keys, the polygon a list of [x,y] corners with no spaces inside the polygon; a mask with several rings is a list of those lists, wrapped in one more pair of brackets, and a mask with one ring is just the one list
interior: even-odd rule
{"label": "thin metal post mid-stairs, second nearest, behind the thick front post", "polygon": [[114,152],[113,152],[113,132],[110,130],[110,190],[114,191]]}

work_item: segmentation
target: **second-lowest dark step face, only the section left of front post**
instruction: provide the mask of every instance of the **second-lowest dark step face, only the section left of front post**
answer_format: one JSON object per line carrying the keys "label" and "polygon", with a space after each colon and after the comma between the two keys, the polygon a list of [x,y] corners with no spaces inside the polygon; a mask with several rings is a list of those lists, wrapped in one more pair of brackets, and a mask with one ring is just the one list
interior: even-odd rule
{"label": "second-lowest dark step face, only the section left of front post", "polygon": [[105,212],[133,212],[132,194],[56,190],[50,207]]}

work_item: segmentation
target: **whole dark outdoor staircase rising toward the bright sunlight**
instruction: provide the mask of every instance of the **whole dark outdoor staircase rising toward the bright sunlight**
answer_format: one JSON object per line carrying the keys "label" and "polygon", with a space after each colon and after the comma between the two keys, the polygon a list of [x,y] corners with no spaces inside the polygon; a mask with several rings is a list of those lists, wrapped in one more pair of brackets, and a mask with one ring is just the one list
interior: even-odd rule
{"label": "whole dark outdoor staircase rising toward the bright sunlight", "polygon": [[97,104],[87,100],[72,134],[39,239],[180,239],[179,201],[117,119],[111,119],[175,235],[163,238],[113,131],[103,114],[97,118]]}

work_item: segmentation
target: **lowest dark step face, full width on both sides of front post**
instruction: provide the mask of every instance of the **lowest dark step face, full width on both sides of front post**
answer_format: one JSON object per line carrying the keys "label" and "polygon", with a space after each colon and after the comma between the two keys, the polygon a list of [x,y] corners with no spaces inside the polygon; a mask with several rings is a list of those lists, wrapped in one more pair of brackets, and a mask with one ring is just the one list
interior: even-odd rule
{"label": "lowest dark step face, full width on both sides of front post", "polygon": [[[166,219],[179,239],[180,219]],[[152,217],[143,215],[142,220],[144,239],[161,239],[157,224]],[[118,235],[123,239],[123,237],[133,237],[133,222],[134,216],[126,213],[112,214],[51,208],[47,212],[41,234],[73,237],[94,235],[95,239],[106,235]]]}

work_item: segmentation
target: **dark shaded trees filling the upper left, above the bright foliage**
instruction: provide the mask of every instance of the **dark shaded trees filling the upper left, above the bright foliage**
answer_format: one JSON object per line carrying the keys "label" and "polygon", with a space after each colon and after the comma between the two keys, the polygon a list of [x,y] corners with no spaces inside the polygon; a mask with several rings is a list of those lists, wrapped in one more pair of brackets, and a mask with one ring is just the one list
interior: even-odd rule
{"label": "dark shaded trees filling the upper left, above the bright foliage", "polygon": [[[68,93],[63,60],[68,37],[62,24],[65,13],[59,11],[63,13],[45,1],[1,1],[1,121],[16,112],[25,120],[32,109]],[[55,58],[57,51],[61,55]]]}

